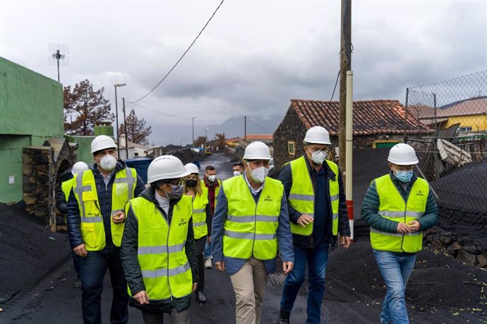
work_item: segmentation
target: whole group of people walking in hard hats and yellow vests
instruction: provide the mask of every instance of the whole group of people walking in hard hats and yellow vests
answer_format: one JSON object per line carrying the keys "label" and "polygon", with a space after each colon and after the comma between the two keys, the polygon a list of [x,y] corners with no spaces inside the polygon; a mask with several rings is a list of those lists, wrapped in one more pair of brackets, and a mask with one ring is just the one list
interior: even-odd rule
{"label": "whole group of people walking in hard hats and yellow vests", "polygon": [[[321,323],[328,251],[351,244],[342,175],[326,159],[330,145],[325,128],[311,127],[303,156],[287,163],[279,180],[267,176],[271,155],[262,142],[246,147],[234,177],[223,182],[211,166],[200,180],[195,164],[160,156],[144,185],[117,161],[113,139],[96,137],[95,163],[63,184],[84,323],[101,323],[107,269],[111,323],[127,322],[128,304],[145,323],[163,323],[164,313],[171,323],[188,323],[193,292],[206,301],[205,268],[213,264],[229,275],[239,324],[260,323],[265,282],[277,266],[287,278],[276,322],[290,323],[308,268],[306,323]],[[408,323],[404,289],[438,208],[426,180],[412,172],[412,147],[397,144],[388,161],[390,172],[371,182],[361,214],[387,287],[380,321]]]}

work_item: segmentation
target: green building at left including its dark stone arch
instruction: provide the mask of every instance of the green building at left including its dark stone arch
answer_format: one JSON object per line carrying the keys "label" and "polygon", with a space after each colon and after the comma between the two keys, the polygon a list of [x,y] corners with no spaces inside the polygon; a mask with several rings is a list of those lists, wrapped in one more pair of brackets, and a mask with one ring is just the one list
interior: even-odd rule
{"label": "green building at left including its dark stone arch", "polygon": [[0,203],[26,210],[56,228],[59,175],[76,163],[64,138],[63,86],[0,57]]}

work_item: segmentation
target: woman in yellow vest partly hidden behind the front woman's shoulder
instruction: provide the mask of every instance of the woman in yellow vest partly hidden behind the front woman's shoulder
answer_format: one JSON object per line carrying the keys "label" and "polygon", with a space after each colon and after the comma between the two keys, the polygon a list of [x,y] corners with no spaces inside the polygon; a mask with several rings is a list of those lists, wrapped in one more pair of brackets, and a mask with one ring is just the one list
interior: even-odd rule
{"label": "woman in yellow vest partly hidden behind the front woman's shoulder", "polygon": [[198,287],[196,288],[196,300],[206,302],[203,294],[205,288],[205,258],[203,250],[211,232],[211,207],[208,201],[208,189],[200,182],[198,166],[188,163],[186,171],[191,173],[186,176],[184,182],[184,194],[193,199],[193,230],[195,234],[196,254],[198,254]]}

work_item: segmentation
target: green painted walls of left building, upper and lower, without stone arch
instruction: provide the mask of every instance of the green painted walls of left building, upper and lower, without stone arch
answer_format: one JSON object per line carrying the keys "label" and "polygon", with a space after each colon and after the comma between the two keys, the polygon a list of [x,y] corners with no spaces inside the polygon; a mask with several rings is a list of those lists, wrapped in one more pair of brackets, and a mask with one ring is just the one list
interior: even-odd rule
{"label": "green painted walls of left building, upper and lower, without stone arch", "polygon": [[[0,57],[0,202],[22,200],[22,149],[64,136],[63,86]],[[15,183],[8,185],[8,176]]]}

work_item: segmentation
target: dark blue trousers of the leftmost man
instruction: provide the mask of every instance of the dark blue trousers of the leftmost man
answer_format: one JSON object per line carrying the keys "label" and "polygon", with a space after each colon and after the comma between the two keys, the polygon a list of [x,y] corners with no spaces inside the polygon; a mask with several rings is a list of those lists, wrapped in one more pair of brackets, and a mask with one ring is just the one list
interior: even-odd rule
{"label": "dark blue trousers of the leftmost man", "polygon": [[113,287],[112,311],[110,323],[127,323],[128,293],[124,269],[120,261],[120,248],[108,245],[102,251],[88,251],[88,256],[81,258],[81,306],[83,322],[102,323],[103,278],[110,272]]}

